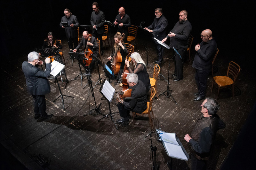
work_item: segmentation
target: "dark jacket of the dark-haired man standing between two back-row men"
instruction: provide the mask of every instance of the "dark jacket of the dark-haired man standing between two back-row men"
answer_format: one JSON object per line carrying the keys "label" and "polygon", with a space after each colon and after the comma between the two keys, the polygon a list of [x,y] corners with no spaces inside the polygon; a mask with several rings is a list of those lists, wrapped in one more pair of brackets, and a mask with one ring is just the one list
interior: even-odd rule
{"label": "dark jacket of the dark-haired man standing between two back-row men", "polygon": [[92,15],[91,15],[91,25],[92,25],[92,27],[94,25],[96,25],[96,28],[98,30],[93,29],[92,33],[97,31],[98,34],[103,34],[105,32],[104,23],[105,23],[105,14],[104,14],[104,12],[99,10],[98,14],[95,15],[95,12],[93,11]]}

